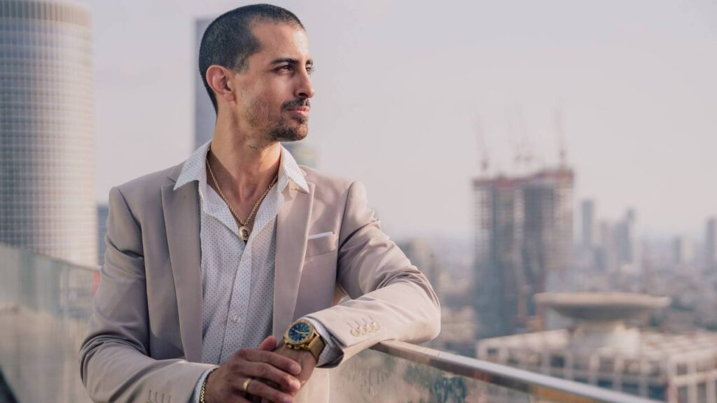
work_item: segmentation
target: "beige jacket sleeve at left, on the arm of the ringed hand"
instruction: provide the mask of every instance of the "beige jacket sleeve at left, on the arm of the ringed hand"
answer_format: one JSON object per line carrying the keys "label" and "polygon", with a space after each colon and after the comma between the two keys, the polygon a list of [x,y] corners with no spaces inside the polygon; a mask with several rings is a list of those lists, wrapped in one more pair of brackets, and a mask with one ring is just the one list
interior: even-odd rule
{"label": "beige jacket sleeve at left, on the arm of the ringed hand", "polygon": [[93,402],[189,402],[211,365],[148,356],[142,235],[118,188],[110,191],[105,264],[80,348],[80,376]]}

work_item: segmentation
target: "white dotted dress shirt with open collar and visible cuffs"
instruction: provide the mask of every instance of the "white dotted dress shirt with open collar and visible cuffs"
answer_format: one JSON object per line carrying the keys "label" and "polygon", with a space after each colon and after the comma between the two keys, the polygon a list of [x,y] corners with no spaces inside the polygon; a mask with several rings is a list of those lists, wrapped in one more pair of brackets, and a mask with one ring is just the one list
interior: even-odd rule
{"label": "white dotted dress shirt with open collar and visible cuffs", "polygon": [[[224,200],[206,183],[206,153],[211,141],[199,147],[182,166],[174,189],[198,181],[200,201],[202,343],[201,360],[217,366],[243,347],[256,349],[272,333],[276,217],[284,201],[283,189],[293,181],[308,191],[293,156],[281,148],[279,176],[257,210],[246,244]],[[180,296],[181,298],[181,296]],[[310,320],[326,343],[318,365],[341,356],[336,341],[321,323]],[[192,401],[199,402],[204,379],[196,384]]]}

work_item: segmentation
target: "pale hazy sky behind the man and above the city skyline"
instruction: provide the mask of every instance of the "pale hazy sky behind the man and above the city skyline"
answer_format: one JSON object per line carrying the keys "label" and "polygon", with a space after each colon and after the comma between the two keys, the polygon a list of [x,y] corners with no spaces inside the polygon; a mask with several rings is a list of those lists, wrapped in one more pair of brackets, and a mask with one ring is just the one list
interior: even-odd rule
{"label": "pale hazy sky behind the man and above the city skyline", "polygon": [[[194,145],[194,19],[237,1],[85,0],[94,30],[98,200]],[[394,237],[470,236],[477,123],[494,169],[518,145],[557,161],[561,107],[576,204],[637,209],[643,232],[717,214],[717,3],[278,1],[316,63],[307,142],[364,181]],[[479,118],[480,116],[480,118]]]}

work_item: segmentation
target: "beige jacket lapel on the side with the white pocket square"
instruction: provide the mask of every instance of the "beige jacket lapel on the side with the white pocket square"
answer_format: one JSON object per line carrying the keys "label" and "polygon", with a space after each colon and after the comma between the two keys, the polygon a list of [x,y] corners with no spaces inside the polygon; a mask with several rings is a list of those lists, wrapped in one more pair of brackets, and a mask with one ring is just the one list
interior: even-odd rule
{"label": "beige jacket lapel on the side with the white pocket square", "polygon": [[279,340],[293,321],[296,310],[314,184],[308,184],[308,188],[307,194],[299,191],[295,184],[288,184],[282,193],[284,202],[277,216],[273,333]]}

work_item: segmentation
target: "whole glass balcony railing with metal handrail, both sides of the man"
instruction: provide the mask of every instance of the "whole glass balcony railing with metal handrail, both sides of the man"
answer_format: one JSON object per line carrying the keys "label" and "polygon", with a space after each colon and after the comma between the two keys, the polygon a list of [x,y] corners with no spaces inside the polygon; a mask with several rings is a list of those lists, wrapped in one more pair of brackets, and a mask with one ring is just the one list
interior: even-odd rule
{"label": "whole glass balcony railing with metal handrail, both sides of the man", "polygon": [[[77,351],[98,271],[0,245],[1,402],[90,402]],[[652,402],[386,341],[334,369],[331,402]]]}

